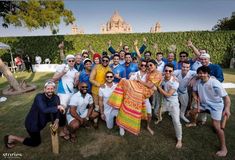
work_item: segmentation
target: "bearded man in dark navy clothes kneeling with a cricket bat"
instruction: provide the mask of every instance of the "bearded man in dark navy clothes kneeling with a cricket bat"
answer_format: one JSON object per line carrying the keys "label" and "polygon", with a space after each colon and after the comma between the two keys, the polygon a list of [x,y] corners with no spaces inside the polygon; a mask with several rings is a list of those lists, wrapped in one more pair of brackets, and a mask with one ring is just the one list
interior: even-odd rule
{"label": "bearded man in dark navy clothes kneeling with a cricket bat", "polygon": [[16,142],[31,147],[40,145],[40,132],[48,122],[53,122],[54,128],[65,126],[65,119],[61,119],[64,113],[64,107],[60,105],[60,99],[55,94],[55,83],[52,81],[46,82],[44,92],[36,95],[25,119],[25,128],[29,137],[23,138],[15,135],[6,135],[4,137],[5,147],[13,148]]}

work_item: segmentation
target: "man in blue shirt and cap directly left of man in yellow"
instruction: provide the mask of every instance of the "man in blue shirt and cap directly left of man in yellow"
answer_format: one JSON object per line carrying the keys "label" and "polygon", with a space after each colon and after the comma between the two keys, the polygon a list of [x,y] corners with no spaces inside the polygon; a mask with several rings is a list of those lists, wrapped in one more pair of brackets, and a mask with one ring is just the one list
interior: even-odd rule
{"label": "man in blue shirt and cap directly left of man in yellow", "polygon": [[83,61],[84,64],[84,69],[79,75],[79,83],[85,82],[87,84],[87,93],[91,94],[91,82],[89,81],[90,79],[90,74],[91,74],[91,69],[92,69],[92,61],[89,58],[84,59]]}

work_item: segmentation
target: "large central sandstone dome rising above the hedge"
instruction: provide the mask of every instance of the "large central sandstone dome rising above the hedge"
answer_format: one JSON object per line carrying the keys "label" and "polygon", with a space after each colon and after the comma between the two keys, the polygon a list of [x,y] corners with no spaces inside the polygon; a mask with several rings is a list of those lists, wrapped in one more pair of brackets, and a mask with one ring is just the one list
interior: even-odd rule
{"label": "large central sandstone dome rising above the hedge", "polygon": [[123,20],[118,11],[115,11],[110,20],[101,26],[100,32],[102,34],[132,33],[132,27]]}

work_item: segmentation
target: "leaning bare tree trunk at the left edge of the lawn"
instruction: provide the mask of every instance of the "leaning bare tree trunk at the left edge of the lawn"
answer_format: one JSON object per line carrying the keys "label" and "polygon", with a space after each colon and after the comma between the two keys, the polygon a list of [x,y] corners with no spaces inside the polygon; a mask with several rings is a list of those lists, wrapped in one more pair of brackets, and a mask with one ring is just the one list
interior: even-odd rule
{"label": "leaning bare tree trunk at the left edge of the lawn", "polygon": [[9,70],[8,66],[6,66],[2,59],[0,58],[0,72],[7,78],[8,83],[15,91],[20,91],[21,87],[18,81],[15,79],[14,75]]}

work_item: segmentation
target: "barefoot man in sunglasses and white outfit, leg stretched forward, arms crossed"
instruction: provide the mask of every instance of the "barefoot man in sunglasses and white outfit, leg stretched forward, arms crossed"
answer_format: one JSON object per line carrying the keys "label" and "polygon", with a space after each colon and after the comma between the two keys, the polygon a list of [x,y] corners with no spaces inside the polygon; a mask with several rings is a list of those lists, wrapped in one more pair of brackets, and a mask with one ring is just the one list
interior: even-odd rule
{"label": "barefoot man in sunglasses and white outfit, leg stretched forward, arms crossed", "polygon": [[157,86],[159,92],[163,95],[162,112],[168,111],[172,117],[177,138],[176,148],[182,147],[182,125],[180,123],[180,108],[177,89],[179,83],[173,77],[174,65],[169,63],[165,65],[165,77],[162,84]]}

